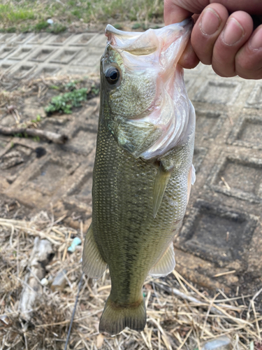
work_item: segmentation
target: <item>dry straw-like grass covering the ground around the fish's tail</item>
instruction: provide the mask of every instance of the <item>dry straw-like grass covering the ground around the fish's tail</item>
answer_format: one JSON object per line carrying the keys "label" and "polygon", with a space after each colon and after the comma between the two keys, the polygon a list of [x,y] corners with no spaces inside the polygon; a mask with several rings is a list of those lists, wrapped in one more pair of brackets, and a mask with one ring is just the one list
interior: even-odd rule
{"label": "dry straw-like grass covering the ground around the fish's tail", "polygon": [[[82,246],[69,254],[73,230],[41,212],[31,221],[0,219],[0,349],[64,349],[71,314],[82,276]],[[38,293],[31,321],[25,322],[19,312],[34,238],[48,239],[55,255],[47,266],[48,286]],[[66,269],[66,286],[50,289],[54,276]],[[256,297],[228,298],[220,290],[214,297],[199,292],[180,274],[166,279],[148,278],[144,295],[147,325],[144,332],[124,330],[116,337],[99,334],[99,318],[108,293],[108,271],[99,281],[84,276],[73,328],[70,349],[201,349],[201,344],[220,335],[231,339],[231,349],[261,349],[260,323]],[[259,291],[261,292],[261,290]]]}

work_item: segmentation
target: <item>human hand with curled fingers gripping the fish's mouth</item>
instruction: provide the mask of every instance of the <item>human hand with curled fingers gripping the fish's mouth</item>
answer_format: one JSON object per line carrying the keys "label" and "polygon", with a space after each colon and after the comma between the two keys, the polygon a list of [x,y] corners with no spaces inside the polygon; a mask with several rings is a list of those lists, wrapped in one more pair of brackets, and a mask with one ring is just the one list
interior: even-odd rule
{"label": "human hand with curled fingers gripping the fish's mouth", "polygon": [[212,64],[219,76],[226,77],[262,78],[262,25],[253,31],[253,14],[262,15],[261,0],[165,0],[164,3],[166,25],[191,15],[195,21],[180,64],[191,69],[200,60]]}

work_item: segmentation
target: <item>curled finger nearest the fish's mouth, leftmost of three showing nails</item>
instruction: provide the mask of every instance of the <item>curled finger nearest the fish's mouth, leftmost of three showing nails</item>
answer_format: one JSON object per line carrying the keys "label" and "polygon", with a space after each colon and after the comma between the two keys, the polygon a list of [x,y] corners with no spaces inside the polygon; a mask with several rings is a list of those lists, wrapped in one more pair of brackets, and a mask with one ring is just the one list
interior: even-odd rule
{"label": "curled finger nearest the fish's mouth, leftmost of three showing nails", "polygon": [[203,64],[212,63],[214,43],[227,19],[228,11],[226,8],[219,3],[212,3],[203,10],[196,21],[191,34],[191,43]]}

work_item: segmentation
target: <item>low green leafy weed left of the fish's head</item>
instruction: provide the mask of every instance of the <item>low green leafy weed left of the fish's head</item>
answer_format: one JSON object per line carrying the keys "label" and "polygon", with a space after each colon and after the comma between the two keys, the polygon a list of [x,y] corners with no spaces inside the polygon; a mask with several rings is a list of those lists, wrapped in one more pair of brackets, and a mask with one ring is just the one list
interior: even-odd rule
{"label": "low green leafy weed left of the fish's head", "polygon": [[66,92],[52,98],[50,104],[45,108],[48,115],[60,112],[71,114],[73,107],[80,107],[81,102],[87,99],[87,88]]}

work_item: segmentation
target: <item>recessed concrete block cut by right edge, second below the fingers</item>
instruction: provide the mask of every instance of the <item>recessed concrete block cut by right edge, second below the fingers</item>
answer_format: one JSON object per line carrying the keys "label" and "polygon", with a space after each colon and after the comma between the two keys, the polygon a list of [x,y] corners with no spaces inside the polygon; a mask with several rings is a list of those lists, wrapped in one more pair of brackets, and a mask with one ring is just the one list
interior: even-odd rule
{"label": "recessed concrete block cut by right edge, second below the fingers", "polygon": [[240,116],[229,134],[227,143],[262,150],[262,116]]}

